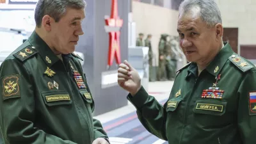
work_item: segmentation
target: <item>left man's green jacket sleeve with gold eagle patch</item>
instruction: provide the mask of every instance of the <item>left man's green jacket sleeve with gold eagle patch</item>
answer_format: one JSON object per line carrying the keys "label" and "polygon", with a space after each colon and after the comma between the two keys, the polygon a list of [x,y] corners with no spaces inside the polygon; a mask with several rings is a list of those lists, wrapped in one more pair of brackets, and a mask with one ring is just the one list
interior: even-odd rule
{"label": "left man's green jacket sleeve with gold eagle patch", "polygon": [[6,144],[75,144],[38,129],[33,81],[24,63],[15,58],[6,59],[0,67],[1,130]]}

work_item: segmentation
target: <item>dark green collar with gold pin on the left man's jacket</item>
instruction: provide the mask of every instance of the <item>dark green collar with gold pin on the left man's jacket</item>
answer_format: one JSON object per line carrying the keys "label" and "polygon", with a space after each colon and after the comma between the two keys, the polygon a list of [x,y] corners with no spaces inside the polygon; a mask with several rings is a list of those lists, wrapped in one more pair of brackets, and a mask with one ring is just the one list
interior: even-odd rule
{"label": "dark green collar with gold pin on the left man's jacket", "polygon": [[51,67],[60,60],[56,54],[50,49],[50,47],[44,42],[40,36],[33,31],[31,36],[28,38],[30,44],[35,47],[42,59],[45,61],[48,67]]}

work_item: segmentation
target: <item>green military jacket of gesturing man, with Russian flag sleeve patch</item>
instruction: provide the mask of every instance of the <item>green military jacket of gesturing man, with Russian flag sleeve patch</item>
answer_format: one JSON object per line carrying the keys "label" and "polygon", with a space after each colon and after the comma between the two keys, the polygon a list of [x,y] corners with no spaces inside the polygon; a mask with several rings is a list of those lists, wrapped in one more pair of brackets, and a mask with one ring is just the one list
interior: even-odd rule
{"label": "green military jacket of gesturing man, with Russian flag sleeve patch", "polygon": [[143,87],[128,95],[145,128],[169,144],[255,144],[256,68],[229,44],[198,76],[179,70],[162,106]]}

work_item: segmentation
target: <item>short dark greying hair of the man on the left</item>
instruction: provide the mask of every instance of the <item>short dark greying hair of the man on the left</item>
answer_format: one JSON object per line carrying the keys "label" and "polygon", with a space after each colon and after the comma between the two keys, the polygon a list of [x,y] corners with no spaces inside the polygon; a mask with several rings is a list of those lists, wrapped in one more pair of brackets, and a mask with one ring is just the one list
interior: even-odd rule
{"label": "short dark greying hair of the man on the left", "polygon": [[44,15],[49,15],[58,22],[67,12],[67,8],[80,10],[85,7],[84,0],[39,0],[35,8],[36,26],[41,26]]}

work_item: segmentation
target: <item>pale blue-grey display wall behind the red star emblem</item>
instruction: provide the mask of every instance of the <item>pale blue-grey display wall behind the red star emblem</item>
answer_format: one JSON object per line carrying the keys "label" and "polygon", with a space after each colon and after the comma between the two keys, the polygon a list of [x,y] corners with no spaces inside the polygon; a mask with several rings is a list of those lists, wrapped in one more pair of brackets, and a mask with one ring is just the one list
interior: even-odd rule
{"label": "pale blue-grey display wall behind the red star emblem", "polygon": [[[106,33],[104,17],[111,14],[111,0],[86,0],[86,19],[83,22],[84,35],[79,39],[76,51],[83,52],[88,84],[95,100],[94,115],[106,113],[127,105],[127,92],[117,83],[115,86],[101,88],[102,72],[116,71],[116,61],[107,69],[109,35]],[[130,0],[118,0],[118,15],[124,20],[120,29],[121,61],[127,60],[128,54],[128,13]]]}

